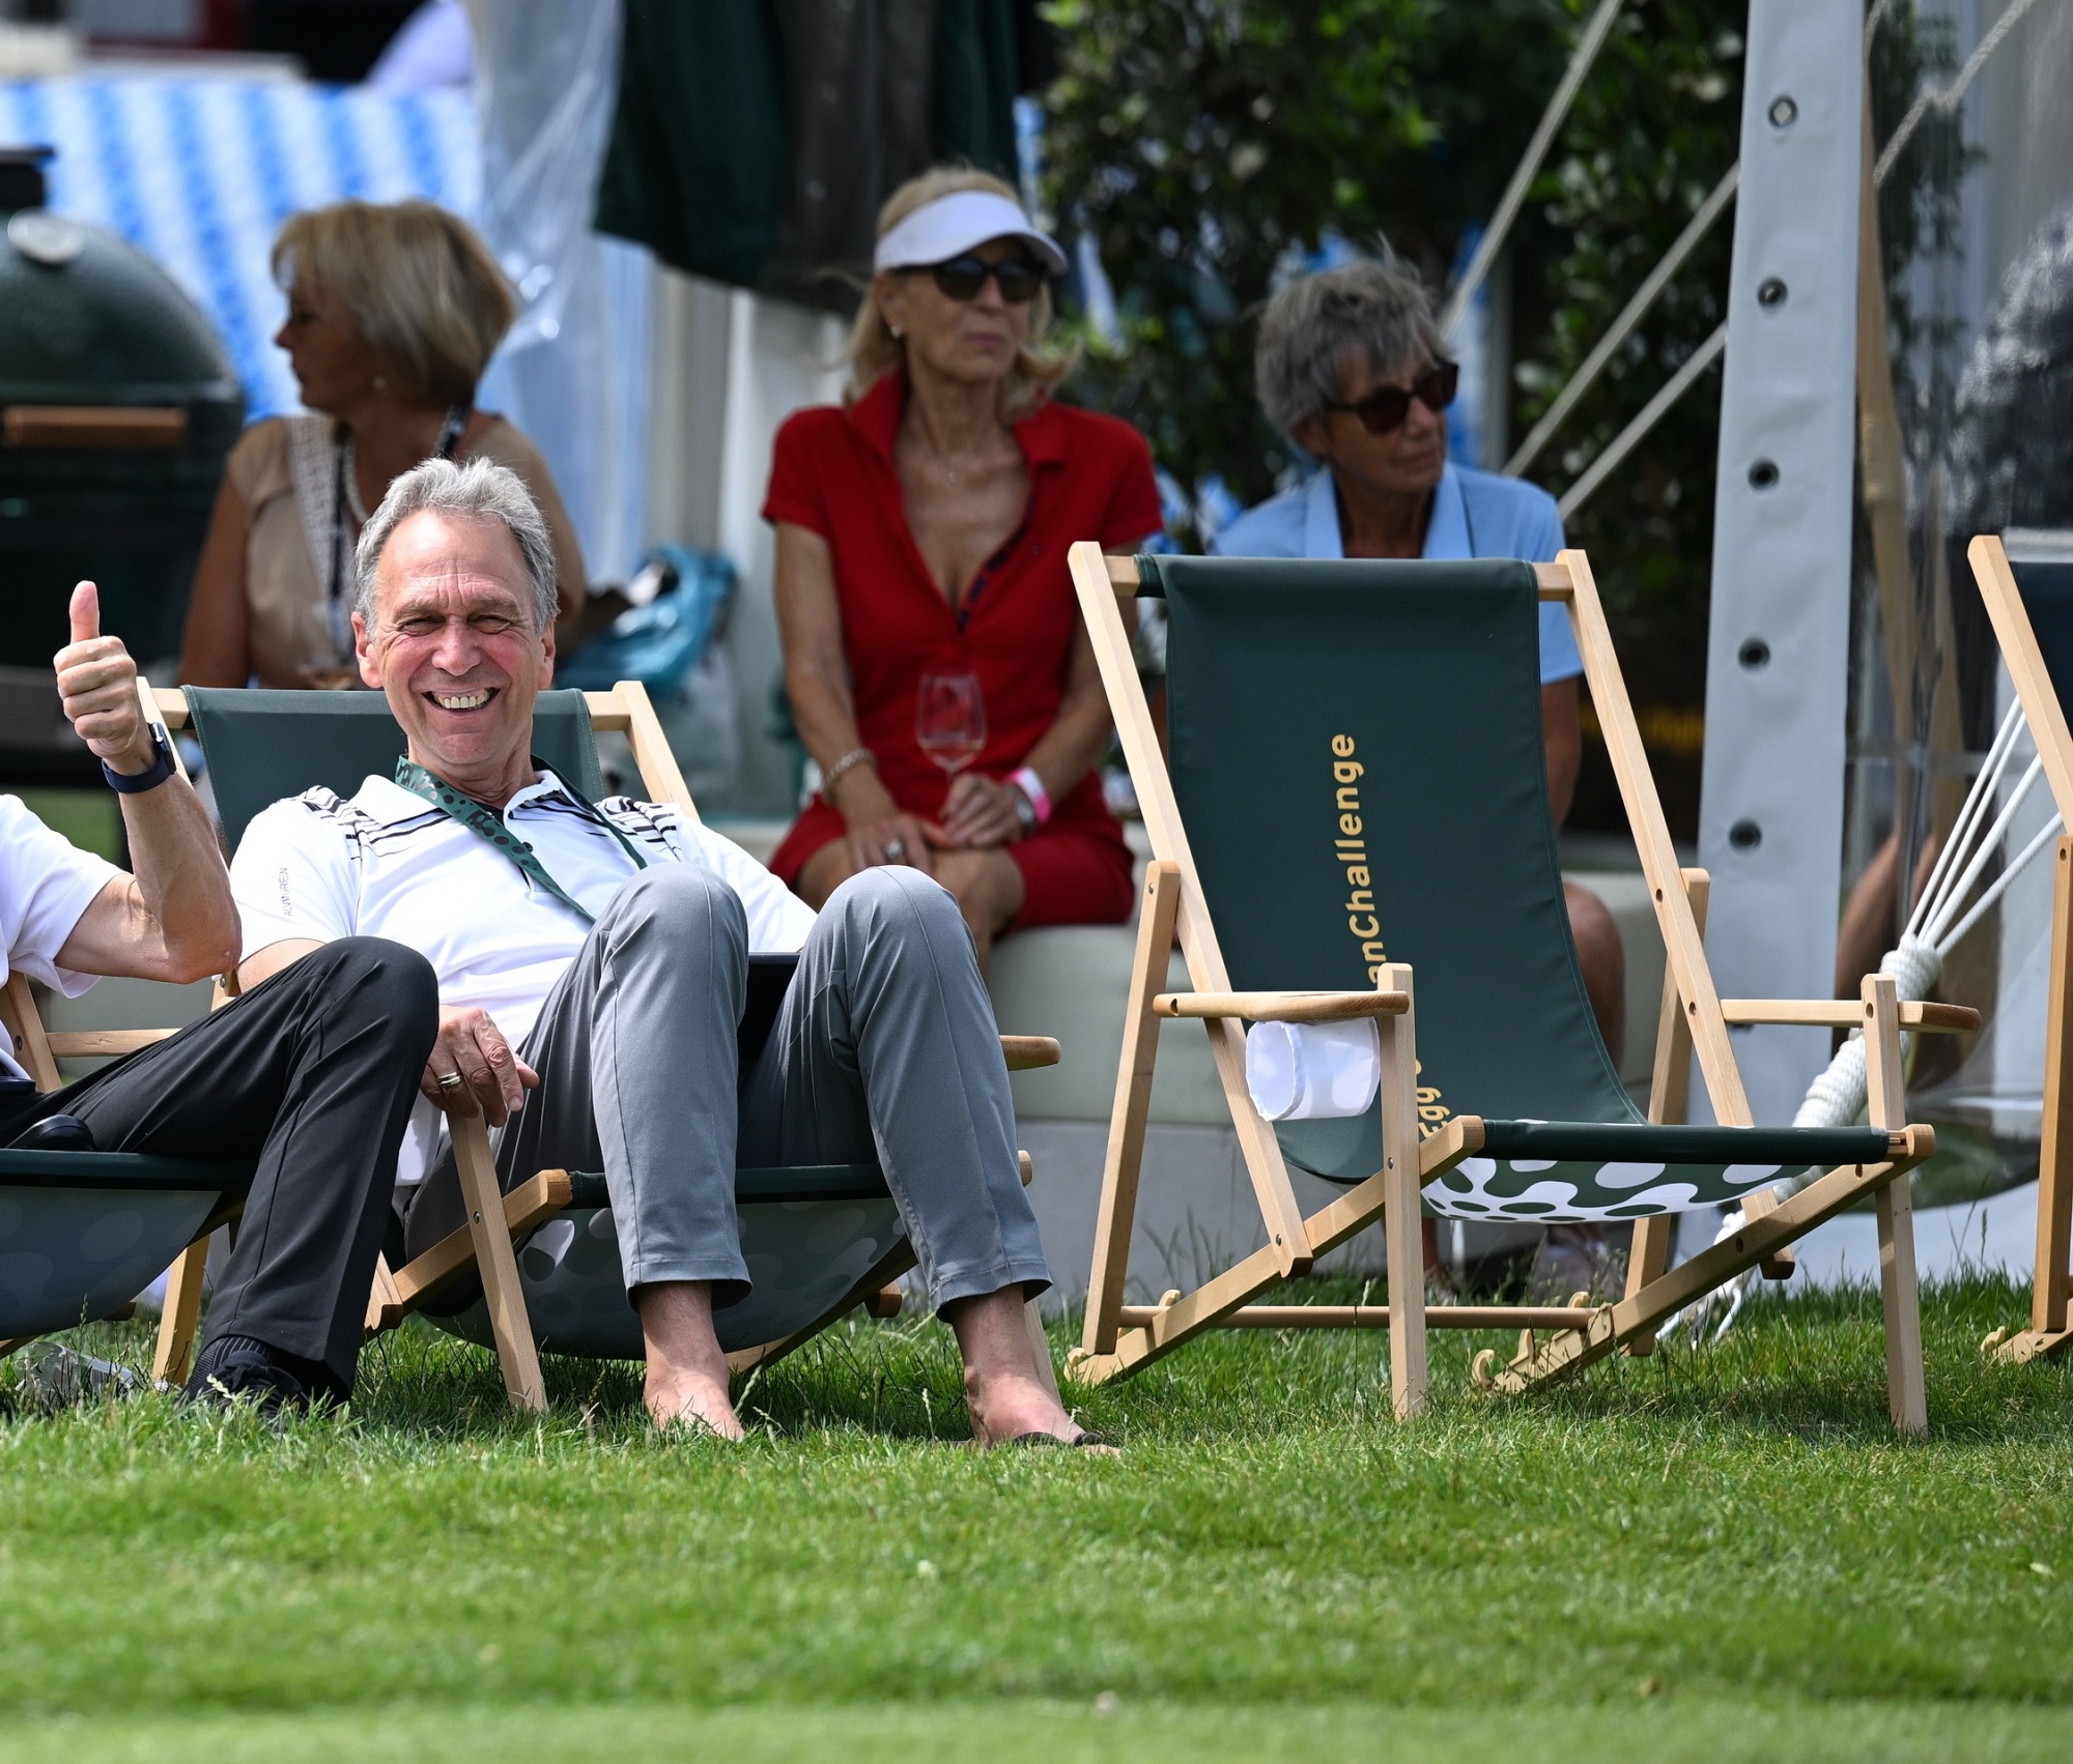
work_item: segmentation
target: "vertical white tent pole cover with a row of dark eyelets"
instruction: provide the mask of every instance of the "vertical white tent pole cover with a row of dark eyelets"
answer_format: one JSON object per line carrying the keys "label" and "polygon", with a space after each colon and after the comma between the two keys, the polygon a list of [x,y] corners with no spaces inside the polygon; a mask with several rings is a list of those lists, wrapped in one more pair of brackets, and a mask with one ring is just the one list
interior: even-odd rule
{"label": "vertical white tent pole cover with a row of dark eyelets", "polygon": [[[1712,545],[1700,863],[1721,992],[1826,998],[1843,865],[1859,0],[1750,0]],[[1822,1029],[1737,1031],[1787,1122]]]}

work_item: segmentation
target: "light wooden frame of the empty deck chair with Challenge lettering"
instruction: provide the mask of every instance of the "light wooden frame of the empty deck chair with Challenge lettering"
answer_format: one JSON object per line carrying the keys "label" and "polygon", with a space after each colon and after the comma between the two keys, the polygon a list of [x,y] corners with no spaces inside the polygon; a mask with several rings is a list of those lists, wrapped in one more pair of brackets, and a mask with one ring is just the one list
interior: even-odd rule
{"label": "light wooden frame of the empty deck chair with Challenge lettering", "polygon": [[[1926,1159],[1936,1137],[1905,1122],[1901,1089],[1903,1025],[1918,1029],[1973,1029],[1978,1012],[1940,1004],[1903,1004],[1891,977],[1868,975],[1862,1000],[1723,1000],[1712,983],[1702,940],[1706,874],[1679,870],[1654,778],[1634,723],[1613,640],[1598,602],[1590,561],[1563,551],[1555,563],[1536,565],[1542,600],[1569,613],[1584,677],[1605,729],[1621,801],[1634,828],[1642,870],[1656,907],[1667,948],[1663,1012],[1656,1031],[1654,1089],[1648,1120],[1683,1120],[1689,1064],[1696,1056],[1712,1099],[1714,1118],[1748,1126],[1750,1104],[1729,1043],[1729,1025],[1797,1023],[1820,1027],[1864,1025],[1870,1064],[1870,1124],[1886,1130],[1889,1157],[1830,1170],[1789,1201],[1768,1188],[1754,1190],[1748,1226],[1673,1271],[1667,1269],[1673,1217],[1644,1217],[1634,1228],[1625,1296],[1615,1304],[1515,1306],[1424,1302],[1420,1230],[1387,1232],[1389,1304],[1329,1306],[1250,1300],[1277,1280],[1300,1275],[1316,1257],[1385,1217],[1416,1222],[1420,1190],[1435,1176],[1482,1145],[1482,1120],[1455,1116],[1420,1143],[1416,1114],[1414,986],[1408,965],[1387,965],[1374,992],[1298,994],[1233,992],[1217,946],[1217,932],[1188,849],[1173,783],[1161,754],[1151,710],[1138,679],[1130,631],[1117,600],[1138,588],[1138,565],[1105,557],[1099,545],[1080,542],[1070,553],[1080,611],[1092,634],[1101,677],[1115,714],[1124,756],[1136,785],[1153,863],[1144,880],[1136,959],[1124,1019],[1124,1052],[1115,1108],[1103,1166],[1095,1263],[1088,1275],[1082,1346],[1068,1356],[1068,1373],[1101,1383],[1171,1352],[1204,1329],[1387,1327],[1391,1400],[1399,1416],[1426,1406],[1426,1329],[1520,1329],[1520,1352],[1484,1373],[1497,1389],[1524,1391],[1571,1377],[1613,1354],[1648,1354],[1654,1331],[1683,1304],[1743,1269],[1777,1265],[1787,1246],[1872,1195],[1878,1205],[1880,1284],[1886,1323],[1886,1387],[1893,1422],[1909,1435],[1928,1427],[1922,1385],[1922,1329],[1915,1292],[1913,1213],[1909,1186],[1895,1180]],[[1192,992],[1163,992],[1167,952],[1180,940]],[[1167,1292],[1155,1306],[1126,1304],[1124,1282],[1136,1219],[1144,1128],[1151,1112],[1159,1025],[1194,1017],[1209,1031],[1217,1077],[1238,1133],[1240,1155],[1258,1199],[1267,1242],[1225,1273],[1188,1294]],[[1372,1017],[1383,1050],[1383,1168],[1308,1217],[1296,1201],[1273,1128],[1260,1118],[1246,1089],[1242,1021],[1329,1023]],[[1756,1197],[1762,1197],[1760,1201]],[[1478,1356],[1478,1373],[1495,1354]],[[1480,1379],[1482,1381],[1482,1379]]]}

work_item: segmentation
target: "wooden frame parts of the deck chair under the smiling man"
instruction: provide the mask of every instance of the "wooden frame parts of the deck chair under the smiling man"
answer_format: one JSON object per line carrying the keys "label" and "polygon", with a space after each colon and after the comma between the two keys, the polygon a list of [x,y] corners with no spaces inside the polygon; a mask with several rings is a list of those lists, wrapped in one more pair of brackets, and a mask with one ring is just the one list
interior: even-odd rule
{"label": "wooden frame parts of the deck chair under the smiling man", "polygon": [[[191,718],[182,692],[162,687],[153,694],[145,687],[145,694],[149,710],[168,729],[184,729],[189,725]],[[684,816],[697,822],[697,803],[692,803],[684,774],[661,733],[661,723],[655,716],[647,687],[638,681],[620,681],[609,692],[587,692],[583,698],[591,714],[593,735],[622,733],[626,737],[649,799],[676,803]],[[218,988],[218,1004],[228,1000],[234,986],[236,977],[226,975]],[[116,1054],[149,1046],[170,1033],[174,1031],[52,1035],[48,1039],[54,1054]],[[1003,1035],[1001,1052],[1010,1070],[1053,1066],[1059,1058],[1057,1041],[1047,1035]],[[52,1066],[54,1072],[56,1068]],[[367,1298],[367,1329],[375,1333],[396,1327],[396,1323],[439,1290],[475,1271],[483,1284],[483,1300],[495,1340],[498,1366],[504,1373],[504,1389],[514,1406],[543,1414],[547,1408],[547,1387],[539,1369],[539,1348],[533,1342],[533,1323],[527,1315],[514,1240],[524,1238],[568,1207],[574,1184],[566,1170],[539,1170],[506,1195],[498,1184],[495,1157],[489,1149],[489,1128],[483,1116],[452,1116],[448,1128],[454,1143],[460,1190],[468,1209],[468,1224],[400,1269],[390,1269],[386,1259],[375,1263],[373,1288]],[[1022,1155],[1022,1180],[1030,1180],[1026,1155]],[[207,1238],[199,1238],[172,1265],[153,1366],[160,1379],[180,1381],[193,1362],[209,1242]],[[752,1366],[771,1364],[860,1304],[871,1304],[877,1315],[889,1315],[889,1302],[896,1302],[898,1294],[887,1294],[887,1286],[910,1267],[914,1267],[914,1255],[906,1238],[902,1238],[893,1251],[864,1269],[850,1292],[825,1315],[775,1342],[730,1354],[730,1371],[740,1375]],[[1049,1348],[1043,1346],[1043,1329],[1036,1321],[1034,1304],[1030,1304],[1028,1319],[1032,1342],[1041,1348],[1039,1362],[1049,1369]]]}

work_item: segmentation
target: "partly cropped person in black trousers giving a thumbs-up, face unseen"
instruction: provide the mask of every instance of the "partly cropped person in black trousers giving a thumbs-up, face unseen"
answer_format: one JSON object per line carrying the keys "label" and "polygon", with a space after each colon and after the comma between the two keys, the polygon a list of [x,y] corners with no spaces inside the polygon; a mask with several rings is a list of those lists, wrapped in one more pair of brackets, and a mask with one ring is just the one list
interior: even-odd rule
{"label": "partly cropped person in black trousers giving a thumbs-up, face unseen", "polygon": [[[133,876],[0,797],[0,981],[68,996],[93,975],[193,981],[238,957],[209,816],[145,721],[137,665],[100,636],[91,582],[58,652],[64,714],[122,801]],[[0,1050],[0,1143],[253,1164],[189,1398],[265,1410],[352,1389],[396,1147],[433,1035],[433,979],[352,938],[178,1035],[44,1095]],[[4,1244],[0,1244],[4,1246]]]}

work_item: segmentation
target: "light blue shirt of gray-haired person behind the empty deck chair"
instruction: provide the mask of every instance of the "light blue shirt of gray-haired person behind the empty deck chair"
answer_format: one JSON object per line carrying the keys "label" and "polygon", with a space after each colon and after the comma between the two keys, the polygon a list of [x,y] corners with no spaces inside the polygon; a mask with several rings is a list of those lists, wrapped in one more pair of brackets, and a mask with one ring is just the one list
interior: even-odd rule
{"label": "light blue shirt of gray-haired person behind the empty deck chair", "polygon": [[[1217,557],[1345,557],[1331,472],[1316,472],[1246,509],[1209,549]],[[1561,549],[1561,513],[1555,497],[1538,484],[1474,472],[1453,462],[1441,470],[1426,528],[1426,557],[1524,557],[1528,563],[1553,563]],[[1559,600],[1542,600],[1540,683],[1575,679],[1582,671],[1584,658],[1575,652],[1569,613]]]}

